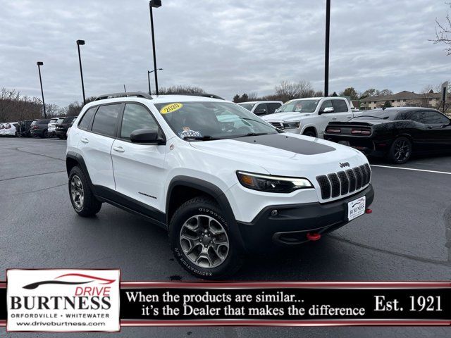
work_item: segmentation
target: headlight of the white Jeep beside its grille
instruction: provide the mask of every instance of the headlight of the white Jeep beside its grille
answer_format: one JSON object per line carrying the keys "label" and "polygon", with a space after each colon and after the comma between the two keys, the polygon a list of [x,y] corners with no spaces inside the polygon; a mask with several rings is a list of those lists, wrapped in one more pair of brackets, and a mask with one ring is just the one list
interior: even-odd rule
{"label": "headlight of the white Jeep beside its grille", "polygon": [[242,171],[237,171],[237,177],[243,187],[260,192],[289,193],[297,189],[313,188],[307,178],[259,175]]}

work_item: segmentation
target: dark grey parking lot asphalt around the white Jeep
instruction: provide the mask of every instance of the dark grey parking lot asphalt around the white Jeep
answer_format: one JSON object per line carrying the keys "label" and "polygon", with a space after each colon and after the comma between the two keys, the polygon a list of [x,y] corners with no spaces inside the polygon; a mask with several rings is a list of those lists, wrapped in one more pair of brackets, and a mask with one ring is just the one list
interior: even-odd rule
{"label": "dark grey parking lot asphalt around the white Jeep", "polygon": [[[120,268],[122,280],[194,280],[173,260],[166,233],[142,218],[108,204],[96,218],[78,217],[68,196],[65,151],[66,142],[59,139],[0,139],[0,280],[4,280],[2,271],[7,268]],[[371,215],[357,218],[319,242],[251,257],[233,280],[450,280],[451,156],[414,158],[398,166],[380,160],[371,163],[376,191]],[[451,329],[125,327],[114,335],[192,338],[314,334],[450,337]],[[4,328],[0,335],[6,337]]]}

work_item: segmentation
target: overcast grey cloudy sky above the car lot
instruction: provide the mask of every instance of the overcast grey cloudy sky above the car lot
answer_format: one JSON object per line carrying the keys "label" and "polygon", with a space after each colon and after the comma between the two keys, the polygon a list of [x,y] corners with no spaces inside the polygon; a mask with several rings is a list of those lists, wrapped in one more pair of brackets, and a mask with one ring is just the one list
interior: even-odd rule
{"label": "overcast grey cloudy sky above the car lot", "polygon": [[[154,10],[160,86],[191,84],[232,99],[271,94],[282,80],[323,89],[325,0],[163,0]],[[147,0],[0,0],[0,87],[46,103],[147,91],[153,68]],[[434,45],[445,0],[332,0],[330,92],[346,87],[420,92],[451,78],[451,56]],[[152,88],[154,84],[152,82]]]}

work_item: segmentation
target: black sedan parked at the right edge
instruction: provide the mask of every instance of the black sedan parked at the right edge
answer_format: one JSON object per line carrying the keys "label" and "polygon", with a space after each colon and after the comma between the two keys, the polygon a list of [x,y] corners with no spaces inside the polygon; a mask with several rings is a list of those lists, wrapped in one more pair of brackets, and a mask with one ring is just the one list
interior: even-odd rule
{"label": "black sedan parked at the right edge", "polygon": [[451,122],[431,108],[365,111],[348,122],[331,122],[324,138],[352,146],[366,155],[406,163],[413,154],[451,151]]}

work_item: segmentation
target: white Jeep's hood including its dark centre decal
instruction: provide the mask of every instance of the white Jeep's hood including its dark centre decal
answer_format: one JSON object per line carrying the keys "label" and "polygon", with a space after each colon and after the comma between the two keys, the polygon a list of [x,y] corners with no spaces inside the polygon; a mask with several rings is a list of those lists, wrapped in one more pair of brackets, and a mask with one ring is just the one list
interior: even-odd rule
{"label": "white Jeep's hood including its dark centre decal", "polygon": [[237,168],[240,170],[259,165],[271,175],[309,180],[342,171],[342,163],[349,163],[350,168],[367,163],[360,151],[348,146],[288,132],[190,144],[195,149],[241,162],[242,168]]}

